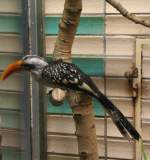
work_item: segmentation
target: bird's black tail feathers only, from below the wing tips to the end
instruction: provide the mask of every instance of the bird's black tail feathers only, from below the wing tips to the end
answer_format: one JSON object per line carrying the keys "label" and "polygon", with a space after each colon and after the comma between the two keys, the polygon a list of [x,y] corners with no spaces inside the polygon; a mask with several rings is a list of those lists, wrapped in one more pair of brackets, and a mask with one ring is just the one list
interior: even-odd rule
{"label": "bird's black tail feathers only, from below the wing tips to the end", "polygon": [[140,134],[137,132],[135,127],[127,120],[127,118],[121,113],[119,109],[101,92],[98,92],[98,96],[95,96],[96,99],[104,106],[105,110],[112,117],[113,122],[116,124],[117,128],[121,134],[126,137],[132,137],[135,140],[141,138]]}

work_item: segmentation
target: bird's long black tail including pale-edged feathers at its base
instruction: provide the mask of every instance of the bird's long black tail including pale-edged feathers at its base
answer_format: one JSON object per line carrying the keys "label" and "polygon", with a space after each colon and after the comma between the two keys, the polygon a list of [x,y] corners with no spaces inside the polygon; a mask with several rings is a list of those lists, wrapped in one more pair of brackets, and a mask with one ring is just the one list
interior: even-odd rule
{"label": "bird's long black tail including pale-edged feathers at its base", "polygon": [[[97,88],[92,79],[90,79],[88,76],[85,76],[84,80],[86,84],[84,86],[88,86],[86,93],[88,92],[89,95],[95,97],[103,105],[121,134],[126,138],[132,137],[133,139],[139,141],[141,139],[140,134],[121,113],[121,111]],[[85,87],[83,89],[85,90]]]}

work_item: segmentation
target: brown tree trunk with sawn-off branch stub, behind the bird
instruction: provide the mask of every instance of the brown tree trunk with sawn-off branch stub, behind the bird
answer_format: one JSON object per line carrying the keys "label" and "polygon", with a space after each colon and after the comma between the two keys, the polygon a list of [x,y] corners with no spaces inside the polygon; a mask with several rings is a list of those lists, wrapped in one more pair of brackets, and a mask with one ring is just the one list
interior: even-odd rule
{"label": "brown tree trunk with sawn-off branch stub, behind the bird", "polygon": [[[71,62],[71,48],[79,24],[82,0],[65,0],[63,17],[54,48],[54,58]],[[55,96],[54,96],[55,95]],[[59,96],[57,96],[59,95]],[[57,102],[64,100],[64,91],[54,89],[52,96]],[[73,111],[81,160],[98,160],[96,129],[92,99],[80,93],[68,93],[67,98]]]}

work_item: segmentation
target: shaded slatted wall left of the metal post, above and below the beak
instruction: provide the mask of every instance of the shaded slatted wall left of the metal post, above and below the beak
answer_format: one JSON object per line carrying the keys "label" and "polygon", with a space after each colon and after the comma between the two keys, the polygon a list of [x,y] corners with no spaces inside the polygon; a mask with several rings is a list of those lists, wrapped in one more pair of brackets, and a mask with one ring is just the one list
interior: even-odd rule
{"label": "shaded slatted wall left of the metal post, above and below the beak", "polygon": [[[22,46],[22,1],[0,1],[0,70],[19,59]],[[16,74],[0,82],[0,152],[2,160],[23,160],[22,97],[24,78]]]}

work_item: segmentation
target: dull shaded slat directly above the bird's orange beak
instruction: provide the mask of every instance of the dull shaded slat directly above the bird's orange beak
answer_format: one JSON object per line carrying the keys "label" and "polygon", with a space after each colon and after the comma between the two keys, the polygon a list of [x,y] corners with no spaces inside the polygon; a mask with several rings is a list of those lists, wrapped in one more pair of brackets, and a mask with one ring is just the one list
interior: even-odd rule
{"label": "dull shaded slat directly above the bird's orange beak", "polygon": [[10,63],[19,60],[21,56],[14,54],[0,54],[0,69],[5,69]]}

